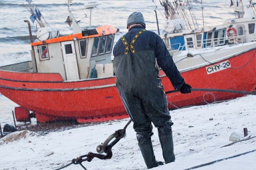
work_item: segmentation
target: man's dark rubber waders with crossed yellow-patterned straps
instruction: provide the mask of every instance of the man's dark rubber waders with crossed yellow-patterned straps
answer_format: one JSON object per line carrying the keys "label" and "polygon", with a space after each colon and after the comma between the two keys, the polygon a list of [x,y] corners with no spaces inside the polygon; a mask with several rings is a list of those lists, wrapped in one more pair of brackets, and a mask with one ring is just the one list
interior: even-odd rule
{"label": "man's dark rubber waders with crossed yellow-patterned straps", "polygon": [[[138,144],[148,168],[158,165],[151,135],[153,123],[158,129],[158,136],[163,149],[165,163],[174,162],[171,116],[167,108],[167,100],[159,69],[156,64],[154,50],[136,51],[136,40],[146,30],[141,29],[134,37],[126,34],[121,37],[124,54],[115,56],[114,69],[116,87],[122,98],[126,112],[133,121],[137,132]],[[127,42],[130,40],[130,45]],[[132,39],[132,40],[131,40]]]}

